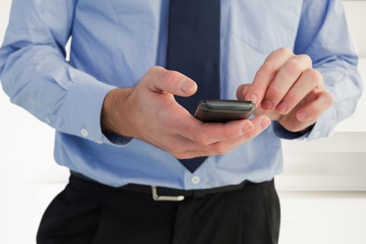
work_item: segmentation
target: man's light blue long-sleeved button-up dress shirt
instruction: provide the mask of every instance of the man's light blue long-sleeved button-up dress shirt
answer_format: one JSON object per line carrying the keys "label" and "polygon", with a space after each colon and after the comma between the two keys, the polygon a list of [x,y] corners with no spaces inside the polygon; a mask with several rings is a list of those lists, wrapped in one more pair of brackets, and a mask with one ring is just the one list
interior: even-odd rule
{"label": "man's light blue long-sleeved button-up dress shirt", "polygon": [[[289,47],[311,56],[335,98],[305,137],[330,135],[353,112],[361,81],[341,1],[221,4],[221,98],[236,99],[237,87],[252,82],[270,52]],[[283,168],[280,137],[291,137],[273,126],[229,153],[209,157],[194,174],[151,144],[103,135],[106,94],[134,86],[152,66],[165,66],[168,10],[167,0],[13,0],[0,49],[3,90],[56,129],[59,165],[101,183],[198,189],[270,180]]]}

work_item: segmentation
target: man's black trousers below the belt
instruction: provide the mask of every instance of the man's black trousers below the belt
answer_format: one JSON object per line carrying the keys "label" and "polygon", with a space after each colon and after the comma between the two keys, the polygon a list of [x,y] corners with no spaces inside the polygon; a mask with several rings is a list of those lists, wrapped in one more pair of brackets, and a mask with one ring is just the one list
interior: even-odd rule
{"label": "man's black trousers below the belt", "polygon": [[271,244],[279,229],[273,181],[176,202],[70,176],[43,215],[37,243]]}

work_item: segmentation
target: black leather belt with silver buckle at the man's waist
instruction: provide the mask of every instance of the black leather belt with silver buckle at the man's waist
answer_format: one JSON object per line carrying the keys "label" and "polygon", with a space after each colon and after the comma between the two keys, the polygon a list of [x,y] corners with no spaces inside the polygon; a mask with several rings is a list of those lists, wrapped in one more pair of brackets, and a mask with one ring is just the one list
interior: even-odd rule
{"label": "black leather belt with silver buckle at the man's waist", "polygon": [[[85,181],[91,181],[98,183],[93,179],[79,174],[75,171],[70,171],[71,175],[77,178],[82,178]],[[142,192],[151,194],[155,201],[182,201],[185,197],[204,197],[205,195],[215,194],[220,192],[229,192],[231,190],[240,190],[244,185],[250,183],[249,181],[243,181],[238,185],[225,185],[220,188],[209,188],[199,190],[181,190],[175,188],[165,188],[155,185],[139,185],[139,184],[127,184],[120,187],[123,190],[131,190],[134,192]],[[98,183],[100,184],[100,183]]]}

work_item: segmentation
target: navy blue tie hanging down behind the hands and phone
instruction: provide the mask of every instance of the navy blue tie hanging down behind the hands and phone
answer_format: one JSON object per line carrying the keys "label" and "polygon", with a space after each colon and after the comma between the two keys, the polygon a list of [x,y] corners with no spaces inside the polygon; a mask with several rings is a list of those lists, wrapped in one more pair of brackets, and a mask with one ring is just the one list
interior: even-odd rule
{"label": "navy blue tie hanging down behind the hands and phone", "polygon": [[[191,114],[200,100],[220,98],[220,0],[170,1],[167,69],[197,82],[194,96],[176,96]],[[206,158],[179,161],[193,173]]]}

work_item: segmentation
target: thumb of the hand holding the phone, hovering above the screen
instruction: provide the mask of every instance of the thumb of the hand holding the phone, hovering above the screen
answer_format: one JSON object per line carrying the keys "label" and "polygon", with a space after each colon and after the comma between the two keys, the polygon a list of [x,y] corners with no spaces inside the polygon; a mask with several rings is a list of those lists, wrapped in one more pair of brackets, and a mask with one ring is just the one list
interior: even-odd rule
{"label": "thumb of the hand holding the phone, hovering above the screen", "polygon": [[148,73],[152,73],[151,81],[148,82],[152,91],[167,92],[183,97],[192,96],[197,91],[196,82],[179,72],[154,67]]}

